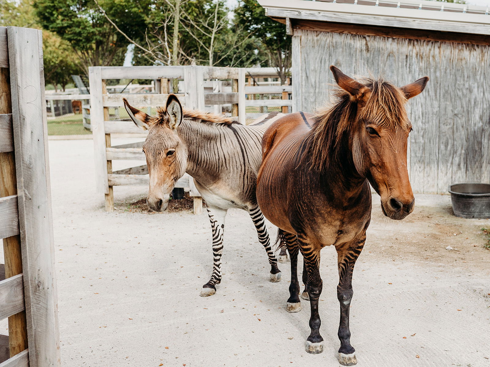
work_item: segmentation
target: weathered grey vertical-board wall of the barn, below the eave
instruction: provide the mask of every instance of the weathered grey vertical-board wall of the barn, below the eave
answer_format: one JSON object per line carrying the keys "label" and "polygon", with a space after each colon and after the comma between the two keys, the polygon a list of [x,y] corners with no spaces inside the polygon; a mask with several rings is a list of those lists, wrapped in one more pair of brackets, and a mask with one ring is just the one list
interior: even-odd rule
{"label": "weathered grey vertical-board wall of the barn, below the eave", "polygon": [[490,183],[490,47],[294,30],[295,111],[312,111],[335,83],[328,67],[402,86],[422,76],[425,91],[408,102],[414,192],[447,193],[453,183]]}

